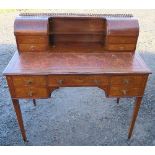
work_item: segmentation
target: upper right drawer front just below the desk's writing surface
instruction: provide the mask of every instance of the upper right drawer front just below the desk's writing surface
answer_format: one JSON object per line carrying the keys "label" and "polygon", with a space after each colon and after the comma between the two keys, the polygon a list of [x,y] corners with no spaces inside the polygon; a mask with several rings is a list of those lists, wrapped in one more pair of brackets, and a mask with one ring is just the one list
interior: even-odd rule
{"label": "upper right drawer front just below the desk's writing surface", "polygon": [[111,86],[143,87],[146,77],[144,76],[112,76]]}

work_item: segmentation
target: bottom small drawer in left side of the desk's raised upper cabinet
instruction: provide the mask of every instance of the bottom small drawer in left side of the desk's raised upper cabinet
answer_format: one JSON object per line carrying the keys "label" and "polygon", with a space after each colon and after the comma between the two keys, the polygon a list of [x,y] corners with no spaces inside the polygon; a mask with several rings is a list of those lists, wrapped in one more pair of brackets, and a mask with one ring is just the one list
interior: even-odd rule
{"label": "bottom small drawer in left side of the desk's raised upper cabinet", "polygon": [[18,44],[20,52],[45,52],[47,44]]}

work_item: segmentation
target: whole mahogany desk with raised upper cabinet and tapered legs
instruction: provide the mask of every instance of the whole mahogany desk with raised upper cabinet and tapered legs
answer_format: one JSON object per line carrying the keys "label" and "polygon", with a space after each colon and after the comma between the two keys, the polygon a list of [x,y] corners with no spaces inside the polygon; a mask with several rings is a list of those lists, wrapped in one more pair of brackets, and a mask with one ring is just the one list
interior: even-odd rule
{"label": "whole mahogany desk with raised upper cabinet and tapered legs", "polygon": [[[102,17],[94,22],[96,19],[89,17],[82,18],[81,22],[81,17],[58,17],[54,23],[56,27],[52,27],[54,36],[51,36],[51,28],[47,26],[51,22],[49,19],[51,17],[47,16],[16,19],[18,51],[3,72],[23,140],[27,138],[18,99],[33,99],[35,104],[35,99],[49,98],[59,87],[76,86],[99,87],[107,97],[116,97],[117,101],[120,97],[136,97],[128,132],[130,138],[151,73],[134,52],[137,20],[123,16]],[[106,19],[106,26],[103,26],[103,19]],[[78,23],[82,24],[82,29]],[[87,33],[90,30],[89,34],[83,29]],[[106,33],[100,34],[98,29]],[[103,40],[104,43],[100,42]]]}

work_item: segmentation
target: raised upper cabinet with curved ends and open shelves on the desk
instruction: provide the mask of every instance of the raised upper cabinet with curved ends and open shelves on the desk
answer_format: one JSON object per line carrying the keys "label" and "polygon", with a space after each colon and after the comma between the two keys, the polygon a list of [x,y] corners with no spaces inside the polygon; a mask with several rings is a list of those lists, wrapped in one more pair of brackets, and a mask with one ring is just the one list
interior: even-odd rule
{"label": "raised upper cabinet with curved ends and open shelves on the desk", "polygon": [[19,52],[134,52],[138,20],[130,14],[20,14]]}

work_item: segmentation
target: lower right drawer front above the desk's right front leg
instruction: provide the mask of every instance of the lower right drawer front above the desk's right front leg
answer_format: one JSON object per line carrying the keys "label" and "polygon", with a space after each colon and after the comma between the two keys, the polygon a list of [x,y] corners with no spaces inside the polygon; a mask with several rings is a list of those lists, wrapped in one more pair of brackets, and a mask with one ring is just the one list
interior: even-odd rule
{"label": "lower right drawer front above the desk's right front leg", "polygon": [[123,87],[111,87],[109,91],[109,96],[120,96],[120,97],[127,97],[127,96],[142,96],[142,89],[140,88],[123,88]]}

